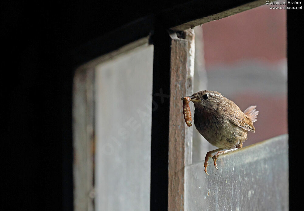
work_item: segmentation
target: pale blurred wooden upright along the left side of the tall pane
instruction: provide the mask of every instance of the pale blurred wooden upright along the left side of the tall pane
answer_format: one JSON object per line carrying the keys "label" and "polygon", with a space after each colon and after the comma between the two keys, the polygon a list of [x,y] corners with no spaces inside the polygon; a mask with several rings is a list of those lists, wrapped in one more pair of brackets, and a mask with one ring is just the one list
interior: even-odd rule
{"label": "pale blurred wooden upright along the left side of the tall pane", "polygon": [[76,70],[73,87],[74,210],[94,210],[94,68]]}

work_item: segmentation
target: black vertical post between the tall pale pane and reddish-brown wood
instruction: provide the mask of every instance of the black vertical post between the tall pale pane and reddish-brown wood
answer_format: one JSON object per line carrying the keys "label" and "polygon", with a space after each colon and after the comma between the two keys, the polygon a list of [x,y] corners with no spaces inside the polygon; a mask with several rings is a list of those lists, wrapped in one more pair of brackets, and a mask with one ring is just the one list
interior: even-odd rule
{"label": "black vertical post between the tall pale pane and reddish-brown wood", "polygon": [[168,139],[170,43],[167,30],[156,20],[153,36],[153,98],[151,127],[150,210],[168,209]]}

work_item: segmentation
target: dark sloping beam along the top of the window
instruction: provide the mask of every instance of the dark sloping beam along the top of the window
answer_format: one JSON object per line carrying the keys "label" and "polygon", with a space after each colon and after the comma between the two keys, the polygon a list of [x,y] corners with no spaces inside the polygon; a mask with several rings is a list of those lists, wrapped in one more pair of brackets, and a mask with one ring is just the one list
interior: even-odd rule
{"label": "dark sloping beam along the top of the window", "polygon": [[[188,1],[183,4],[171,6],[160,12],[151,13],[150,15],[118,27],[97,39],[85,43],[77,49],[72,49],[70,51],[70,57],[73,58],[78,65],[81,65],[136,40],[153,43],[153,34],[157,28],[184,31],[194,26],[234,15],[263,4],[265,4],[264,0]],[[138,42],[137,44],[142,44],[142,42]],[[131,47],[137,47],[137,44]],[[119,53],[127,50],[130,50],[130,46],[121,49]]]}

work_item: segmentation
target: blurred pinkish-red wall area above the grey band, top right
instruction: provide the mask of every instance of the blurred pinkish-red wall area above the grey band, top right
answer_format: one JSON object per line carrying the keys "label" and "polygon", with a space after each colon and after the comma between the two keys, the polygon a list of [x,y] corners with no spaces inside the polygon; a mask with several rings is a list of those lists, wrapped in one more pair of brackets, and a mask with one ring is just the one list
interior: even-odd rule
{"label": "blurred pinkish-red wall area above the grey band, top right", "polygon": [[286,10],[263,5],[202,25],[206,67],[240,59],[286,58]]}

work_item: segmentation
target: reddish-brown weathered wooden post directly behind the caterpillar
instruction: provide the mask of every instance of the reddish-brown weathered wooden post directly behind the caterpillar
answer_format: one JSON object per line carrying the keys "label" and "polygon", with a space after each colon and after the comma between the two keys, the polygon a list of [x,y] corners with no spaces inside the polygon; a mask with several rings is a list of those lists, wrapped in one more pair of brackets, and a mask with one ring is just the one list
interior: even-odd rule
{"label": "reddish-brown weathered wooden post directly behind the caterpillar", "polygon": [[[183,119],[181,97],[192,94],[194,30],[174,32],[171,37],[168,210],[184,210],[185,165],[192,163],[192,131]],[[193,107],[191,108],[192,112]],[[192,114],[193,115],[193,114]]]}

